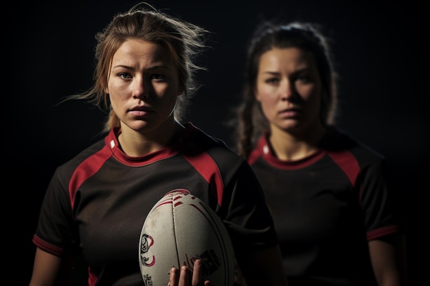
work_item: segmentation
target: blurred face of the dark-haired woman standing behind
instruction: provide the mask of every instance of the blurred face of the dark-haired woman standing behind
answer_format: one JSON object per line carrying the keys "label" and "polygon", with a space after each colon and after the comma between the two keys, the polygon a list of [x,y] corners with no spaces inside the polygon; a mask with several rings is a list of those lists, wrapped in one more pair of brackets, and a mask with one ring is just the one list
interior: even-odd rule
{"label": "blurred face of the dark-haired woman standing behind", "polygon": [[321,79],[313,55],[295,47],[263,53],[256,99],[271,129],[297,132],[319,124]]}

